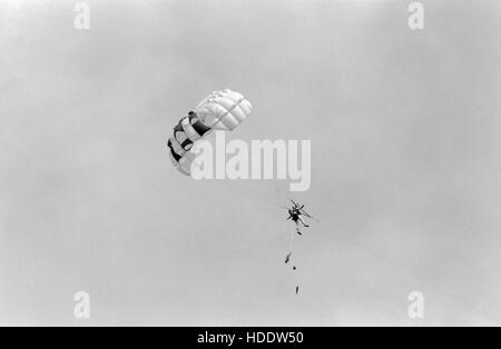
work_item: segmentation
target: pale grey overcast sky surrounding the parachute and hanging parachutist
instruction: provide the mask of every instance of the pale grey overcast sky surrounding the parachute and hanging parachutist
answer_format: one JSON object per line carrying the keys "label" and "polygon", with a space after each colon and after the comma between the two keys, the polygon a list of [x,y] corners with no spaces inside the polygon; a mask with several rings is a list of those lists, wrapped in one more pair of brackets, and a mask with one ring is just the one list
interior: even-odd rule
{"label": "pale grey overcast sky surrounding the parachute and hanging parachutist", "polygon": [[[501,323],[499,0],[76,2],[0,1],[0,325]],[[312,141],[296,275],[287,181],[169,161],[224,88]]]}

